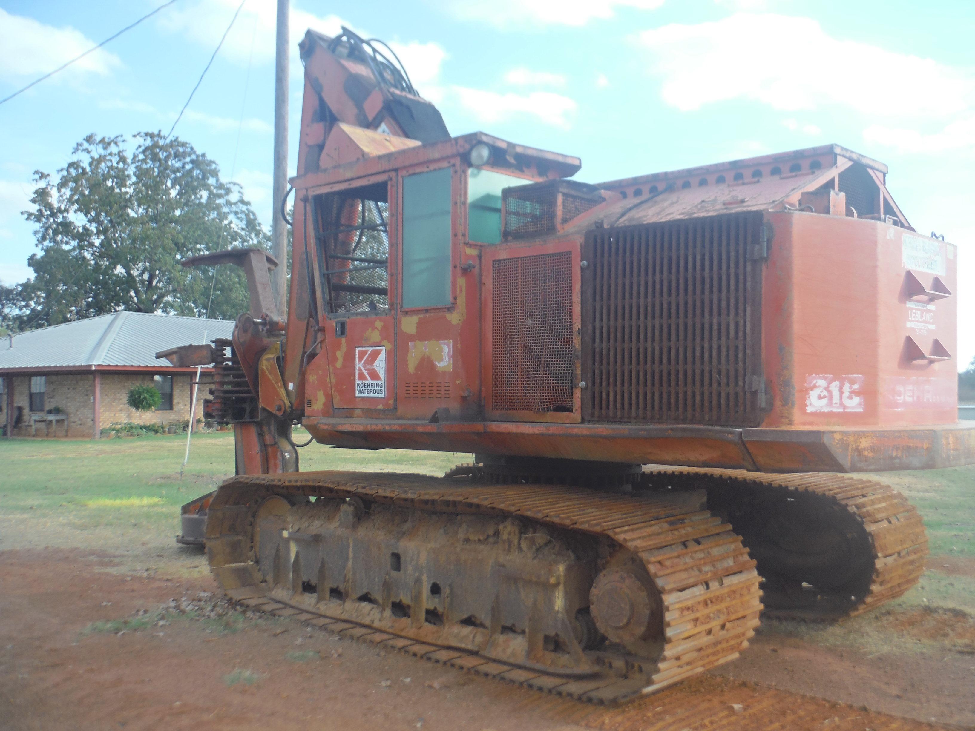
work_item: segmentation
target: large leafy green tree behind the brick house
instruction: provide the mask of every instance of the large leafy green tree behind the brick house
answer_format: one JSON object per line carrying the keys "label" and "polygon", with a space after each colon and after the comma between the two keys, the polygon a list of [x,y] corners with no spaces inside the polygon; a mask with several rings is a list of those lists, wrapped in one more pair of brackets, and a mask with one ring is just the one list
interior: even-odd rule
{"label": "large leafy green tree behind the brick house", "polygon": [[[239,185],[184,140],[160,133],[89,135],[55,181],[38,171],[24,215],[36,224],[34,277],[0,291],[0,323],[17,329],[56,325],[118,310],[203,316],[213,268],[186,269],[194,254],[236,247],[267,249],[270,237]],[[210,316],[248,309],[243,272],[220,267]]]}

